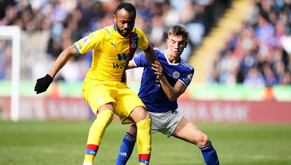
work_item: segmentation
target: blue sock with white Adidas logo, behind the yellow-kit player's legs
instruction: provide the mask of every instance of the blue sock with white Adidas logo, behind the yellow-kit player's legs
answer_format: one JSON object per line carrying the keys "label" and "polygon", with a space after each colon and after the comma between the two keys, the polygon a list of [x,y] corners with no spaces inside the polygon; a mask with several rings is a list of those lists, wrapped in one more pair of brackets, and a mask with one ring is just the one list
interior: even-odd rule
{"label": "blue sock with white Adidas logo, behind the yellow-kit player's legs", "polygon": [[116,159],[115,165],[125,165],[132,154],[135,146],[136,137],[128,132],[125,133],[124,138],[121,142],[119,153]]}

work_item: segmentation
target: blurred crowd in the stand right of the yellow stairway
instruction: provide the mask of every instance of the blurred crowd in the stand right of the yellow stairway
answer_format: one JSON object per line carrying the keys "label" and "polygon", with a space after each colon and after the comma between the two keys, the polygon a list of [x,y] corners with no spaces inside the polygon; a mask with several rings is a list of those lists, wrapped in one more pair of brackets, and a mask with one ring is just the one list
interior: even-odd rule
{"label": "blurred crowd in the stand right of the yellow stairway", "polygon": [[291,84],[291,0],[253,2],[250,18],[217,54],[208,84]]}

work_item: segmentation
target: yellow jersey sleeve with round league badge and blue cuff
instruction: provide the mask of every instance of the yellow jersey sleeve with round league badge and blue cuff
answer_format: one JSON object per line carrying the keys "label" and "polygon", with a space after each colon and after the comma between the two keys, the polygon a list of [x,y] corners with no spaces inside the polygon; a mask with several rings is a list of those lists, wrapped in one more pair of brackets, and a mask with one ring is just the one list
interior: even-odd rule
{"label": "yellow jersey sleeve with round league badge and blue cuff", "polygon": [[79,54],[83,54],[92,49],[102,48],[105,40],[105,29],[100,29],[90,33],[88,36],[75,42],[73,45]]}

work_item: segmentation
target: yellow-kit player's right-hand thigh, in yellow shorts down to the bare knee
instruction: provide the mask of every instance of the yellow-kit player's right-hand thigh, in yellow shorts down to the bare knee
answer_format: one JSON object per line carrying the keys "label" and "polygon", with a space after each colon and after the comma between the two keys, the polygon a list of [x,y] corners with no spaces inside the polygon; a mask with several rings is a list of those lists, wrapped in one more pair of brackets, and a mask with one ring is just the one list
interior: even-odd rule
{"label": "yellow-kit player's right-hand thigh, in yellow shorts down to the bare knee", "polygon": [[144,103],[126,85],[119,85],[115,100],[115,113],[120,117],[122,124],[138,123],[150,117]]}

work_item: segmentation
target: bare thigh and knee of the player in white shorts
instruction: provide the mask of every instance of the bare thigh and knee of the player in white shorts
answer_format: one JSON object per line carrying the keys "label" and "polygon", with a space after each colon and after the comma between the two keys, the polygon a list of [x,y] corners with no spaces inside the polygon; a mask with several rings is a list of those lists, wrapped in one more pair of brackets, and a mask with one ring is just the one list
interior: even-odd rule
{"label": "bare thigh and knee of the player in white shorts", "polygon": [[203,147],[209,143],[208,136],[185,117],[181,119],[172,136],[195,144],[198,147]]}

